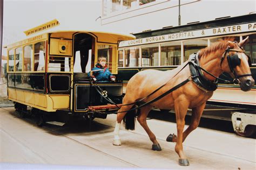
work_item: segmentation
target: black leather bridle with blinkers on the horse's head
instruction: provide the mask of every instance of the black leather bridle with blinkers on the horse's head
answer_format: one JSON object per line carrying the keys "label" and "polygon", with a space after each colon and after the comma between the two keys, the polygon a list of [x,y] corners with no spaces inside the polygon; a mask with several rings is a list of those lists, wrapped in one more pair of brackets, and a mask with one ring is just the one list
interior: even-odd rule
{"label": "black leather bridle with blinkers on the horse's head", "polygon": [[[238,44],[237,41],[233,41],[233,42]],[[230,46],[228,46],[227,49],[225,50],[223,56],[221,57],[221,61],[220,61],[220,68],[221,68],[221,65],[222,65],[222,63],[223,63],[223,61],[225,59],[225,56],[227,56],[228,66],[230,67],[231,72],[235,76],[235,79],[233,80],[234,84],[239,84],[240,83],[240,80],[239,80],[240,77],[252,76],[252,74],[237,75],[237,73],[235,73],[235,71],[234,71],[234,68],[236,66],[240,66],[240,64],[241,64],[241,59],[239,59],[238,53],[244,53],[247,56],[247,58],[248,58],[249,66],[250,67],[252,66],[252,62],[251,62],[250,56],[248,56],[245,53],[244,49],[239,44],[238,44],[238,46],[239,46],[240,49],[232,49],[232,48],[230,48]],[[234,52],[237,52],[237,53],[235,53],[234,55],[230,55],[229,54],[230,51],[234,51]]]}

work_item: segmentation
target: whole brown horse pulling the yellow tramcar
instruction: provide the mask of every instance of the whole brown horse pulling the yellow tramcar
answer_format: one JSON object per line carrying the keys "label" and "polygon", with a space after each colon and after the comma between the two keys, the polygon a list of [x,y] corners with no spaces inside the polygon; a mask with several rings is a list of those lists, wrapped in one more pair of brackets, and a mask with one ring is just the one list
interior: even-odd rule
{"label": "whole brown horse pulling the yellow tramcar", "polygon": [[[189,165],[187,157],[183,151],[183,141],[186,139],[188,134],[197,128],[200,117],[203,114],[206,101],[211,98],[213,91],[217,88],[217,81],[215,81],[215,77],[218,77],[223,72],[229,73],[236,79],[237,83],[240,84],[240,88],[243,91],[250,90],[254,85],[254,80],[248,64],[248,60],[250,58],[248,58],[241,47],[247,40],[248,37],[242,40],[239,44],[235,41],[228,40],[215,42],[215,44],[201,49],[196,57],[198,58],[197,63],[190,64],[189,67],[187,66],[189,61],[186,61],[183,65],[173,70],[167,70],[164,72],[159,70],[144,70],[134,75],[127,84],[123,105],[117,114],[113,145],[121,145],[119,128],[123,119],[126,129],[134,129],[136,115],[132,114],[132,111],[127,112],[127,110],[134,108],[134,102],[140,101],[140,103],[146,103],[151,101],[153,98],[160,96],[187,79],[189,81],[183,86],[165,95],[159,100],[140,108],[140,113],[138,114],[137,112],[137,120],[149,135],[149,138],[153,143],[152,150],[160,151],[161,147],[156,136],[149,129],[149,126],[147,126],[146,117],[152,107],[166,110],[174,109],[176,112],[177,136],[173,134],[170,140],[176,142],[175,151],[179,155],[179,165]],[[200,66],[201,69],[198,66]],[[194,76],[194,73],[192,73],[193,68],[194,70],[195,68],[199,70],[197,72],[200,72],[201,77],[200,75]],[[202,69],[206,70],[208,73],[202,71]],[[199,79],[197,77],[199,77]],[[201,84],[198,81],[201,81]],[[163,84],[165,85],[161,87]],[[158,88],[159,90],[151,94],[152,91]],[[145,96],[147,97],[145,98]],[[191,124],[183,132],[185,115],[188,108],[192,109]]]}

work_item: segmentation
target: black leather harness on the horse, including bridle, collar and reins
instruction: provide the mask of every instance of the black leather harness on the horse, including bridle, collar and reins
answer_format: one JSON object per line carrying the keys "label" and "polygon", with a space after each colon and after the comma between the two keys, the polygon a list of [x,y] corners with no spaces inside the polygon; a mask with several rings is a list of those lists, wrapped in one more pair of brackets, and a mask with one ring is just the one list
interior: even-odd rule
{"label": "black leather harness on the horse, including bridle, collar and reins", "polygon": [[[202,68],[200,66],[200,63],[199,63],[199,59],[198,59],[198,55],[200,53],[197,52],[197,53],[193,53],[190,55],[189,59],[188,59],[188,62],[186,63],[186,65],[184,65],[183,68],[181,68],[179,70],[179,72],[181,70],[183,70],[187,65],[189,65],[190,67],[190,74],[191,76],[188,77],[188,79],[184,80],[183,82],[177,84],[176,86],[174,86],[173,88],[171,88],[170,90],[167,90],[165,93],[161,94],[160,96],[156,97],[156,98],[153,98],[151,101],[148,101],[146,103],[143,102],[143,100],[145,100],[145,98],[151,96],[152,94],[156,93],[159,89],[163,88],[170,80],[172,80],[173,77],[175,77],[176,75],[174,75],[169,81],[167,81],[165,84],[163,84],[162,86],[160,86],[159,88],[157,88],[156,90],[154,90],[151,94],[147,95],[146,97],[140,99],[139,101],[136,101],[136,102],[133,102],[133,103],[129,103],[129,104],[123,104],[123,105],[132,105],[132,104],[137,104],[138,106],[135,107],[135,108],[132,108],[130,110],[125,110],[125,111],[122,111],[122,112],[127,112],[127,111],[132,111],[132,110],[137,110],[139,108],[142,108],[142,107],[145,107],[146,105],[149,105],[153,102],[156,102],[158,101],[160,98],[163,98],[164,96],[166,96],[167,94],[170,94],[172,93],[172,91],[180,88],[181,86],[183,86],[184,84],[186,84],[187,82],[189,81],[192,81],[193,83],[197,84],[197,87],[205,92],[208,92],[208,91],[214,91],[218,88],[218,80],[222,80],[226,83],[239,83],[239,78],[240,77],[244,77],[244,76],[252,76],[252,74],[243,74],[243,75],[237,75],[237,73],[235,73],[234,71],[234,68],[236,66],[239,66],[241,64],[241,60],[239,59],[238,57],[238,53],[245,53],[244,49],[242,49],[241,46],[239,46],[241,50],[237,50],[237,49],[231,49],[230,47],[228,47],[223,56],[221,57],[221,61],[220,61],[220,67],[221,67],[221,64],[223,63],[224,59],[225,59],[225,56],[227,54],[227,61],[228,61],[228,66],[230,67],[230,70],[231,72],[234,74],[235,76],[235,79],[233,81],[228,81],[228,80],[224,80],[224,79],[220,79],[219,77],[216,77],[214,76],[213,74],[211,74],[210,72],[208,72],[207,70],[205,70],[204,68]],[[230,56],[229,55],[229,52],[230,51],[235,51],[237,52],[236,54]],[[248,57],[248,63],[249,65],[251,66],[251,59],[250,59],[250,56],[246,55]],[[204,70],[204,72],[206,72],[207,74],[213,76],[215,78],[215,81],[209,81],[207,80],[202,71],[201,70]],[[93,81],[91,80],[90,81],[92,86],[94,86],[96,88],[96,90],[98,91],[98,93],[100,95],[104,95],[104,92],[103,91],[99,91],[100,88],[97,89],[97,87],[95,85],[93,85]],[[116,103],[113,103],[113,101],[108,98],[107,96],[103,96],[107,101],[109,101],[110,103],[112,104],[115,104],[117,107],[118,105]],[[120,108],[120,107],[118,107]],[[111,113],[105,113],[105,114],[117,114],[117,113],[120,113],[121,111],[116,111],[116,112],[111,112]]]}

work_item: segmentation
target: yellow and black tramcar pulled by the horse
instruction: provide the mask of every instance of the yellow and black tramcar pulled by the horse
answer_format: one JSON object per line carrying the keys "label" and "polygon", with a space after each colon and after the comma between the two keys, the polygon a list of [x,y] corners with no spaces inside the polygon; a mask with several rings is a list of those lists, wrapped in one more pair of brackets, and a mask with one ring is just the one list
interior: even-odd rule
{"label": "yellow and black tramcar pulled by the horse", "polygon": [[38,125],[45,122],[63,125],[70,116],[106,118],[104,112],[117,107],[111,107],[104,95],[114,103],[122,103],[123,83],[117,79],[92,86],[87,73],[97,63],[98,56],[105,56],[110,71],[117,75],[118,44],[134,36],[48,31],[58,25],[55,19],[37,26],[25,31],[29,38],[6,46],[9,100],[15,102],[21,116],[35,114]]}

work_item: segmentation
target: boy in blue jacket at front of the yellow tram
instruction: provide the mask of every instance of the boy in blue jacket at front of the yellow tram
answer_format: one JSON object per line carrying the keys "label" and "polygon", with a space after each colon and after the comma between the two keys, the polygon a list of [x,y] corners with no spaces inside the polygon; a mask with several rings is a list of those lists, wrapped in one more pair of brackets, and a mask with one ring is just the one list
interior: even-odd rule
{"label": "boy in blue jacket at front of the yellow tram", "polygon": [[115,81],[116,76],[112,75],[109,68],[106,65],[105,56],[100,56],[98,58],[98,63],[92,68],[88,76],[93,79],[93,81]]}

